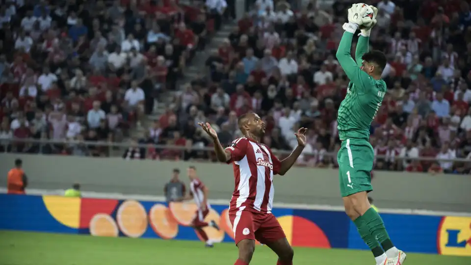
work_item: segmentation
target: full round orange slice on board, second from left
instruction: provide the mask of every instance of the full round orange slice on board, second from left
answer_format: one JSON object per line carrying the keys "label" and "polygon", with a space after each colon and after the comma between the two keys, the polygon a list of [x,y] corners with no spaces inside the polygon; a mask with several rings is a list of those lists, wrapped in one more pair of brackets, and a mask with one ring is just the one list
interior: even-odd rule
{"label": "full round orange slice on board, second from left", "polygon": [[125,201],[116,213],[121,232],[130,238],[139,238],[147,230],[147,212],[138,201]]}

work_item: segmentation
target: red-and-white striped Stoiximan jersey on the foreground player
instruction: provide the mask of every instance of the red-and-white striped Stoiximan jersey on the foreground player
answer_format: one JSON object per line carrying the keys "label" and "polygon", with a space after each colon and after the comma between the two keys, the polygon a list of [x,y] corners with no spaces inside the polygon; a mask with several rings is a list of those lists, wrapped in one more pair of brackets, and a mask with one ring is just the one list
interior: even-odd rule
{"label": "red-and-white striped Stoiximan jersey on the foreground player", "polygon": [[280,172],[281,162],[270,148],[253,139],[242,137],[226,148],[234,164],[235,188],[229,211],[248,210],[270,213],[273,208],[273,175]]}

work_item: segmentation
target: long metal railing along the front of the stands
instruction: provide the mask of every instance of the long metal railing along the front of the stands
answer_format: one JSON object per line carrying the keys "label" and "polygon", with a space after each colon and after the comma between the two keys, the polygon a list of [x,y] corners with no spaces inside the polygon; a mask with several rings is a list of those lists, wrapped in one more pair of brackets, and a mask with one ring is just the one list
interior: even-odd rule
{"label": "long metal railing along the front of the stands", "polygon": [[[119,143],[119,142],[108,142],[108,141],[78,141],[78,140],[67,140],[67,139],[32,139],[32,138],[11,138],[11,139],[0,139],[0,146],[3,148],[3,152],[7,153],[11,150],[12,145],[18,145],[18,144],[30,144],[30,145],[39,145],[39,146],[44,146],[48,144],[52,145],[64,145],[64,146],[74,146],[80,144],[81,146],[95,146],[95,147],[104,147],[107,148],[110,152],[109,154],[113,153],[111,151],[119,150],[121,152],[124,152],[126,148],[130,147],[136,147],[136,148],[144,148],[148,149],[149,147],[155,148],[155,150],[179,150],[184,152],[185,150],[192,150],[192,151],[209,151],[209,152],[214,152],[214,149],[212,147],[185,147],[185,146],[179,146],[179,145],[161,145],[161,144],[147,144],[147,143],[138,143],[138,144],[132,144],[130,142],[126,143]],[[287,150],[272,150],[275,155],[289,155],[291,154],[292,151],[287,151]],[[14,152],[14,153],[26,153],[26,152]],[[120,156],[122,153],[119,155],[115,156]],[[305,152],[303,153],[305,156],[315,156],[315,153],[312,152]],[[336,158],[337,153],[336,152],[328,152],[323,154],[323,156],[326,157],[332,157]],[[389,159],[388,156],[384,155],[377,155],[375,156],[376,159]],[[395,156],[395,160],[400,160],[400,159],[407,159],[407,160],[418,160],[418,161],[437,161],[440,160],[441,162],[470,162],[470,159],[467,158],[454,158],[454,159],[436,159],[434,157],[417,157],[417,158],[410,158],[410,157],[403,157],[403,156]]]}

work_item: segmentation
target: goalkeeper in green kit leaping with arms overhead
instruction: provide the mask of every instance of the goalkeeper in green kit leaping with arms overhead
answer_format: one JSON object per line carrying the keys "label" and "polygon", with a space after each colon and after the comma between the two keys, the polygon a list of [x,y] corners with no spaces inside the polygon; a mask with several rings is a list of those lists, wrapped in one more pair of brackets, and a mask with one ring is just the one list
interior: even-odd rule
{"label": "goalkeeper in green kit leaping with arms overhead", "polygon": [[[355,223],[360,236],[369,246],[377,265],[402,265],[406,254],[398,250],[386,232],[383,220],[368,202],[371,186],[370,171],[374,151],[368,142],[369,128],[386,94],[381,74],[386,56],[380,51],[368,52],[369,33],[376,22],[377,9],[370,28],[363,28],[365,4],[353,4],[348,10],[348,23],[337,50],[337,59],[350,79],[347,95],[339,107],[338,130],[342,141],[339,162],[340,194],[346,214]],[[356,63],[350,55],[353,34],[361,29],[355,52]],[[384,250],[383,250],[384,249]]]}

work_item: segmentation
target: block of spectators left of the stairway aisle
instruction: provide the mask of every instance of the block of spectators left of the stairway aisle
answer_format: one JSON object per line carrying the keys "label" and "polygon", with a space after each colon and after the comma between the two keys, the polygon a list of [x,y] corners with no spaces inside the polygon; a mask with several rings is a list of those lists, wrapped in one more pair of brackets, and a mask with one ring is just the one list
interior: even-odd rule
{"label": "block of spectators left of the stairway aisle", "polygon": [[207,14],[178,0],[1,0],[0,152],[106,155],[21,139],[121,141],[204,47]]}

